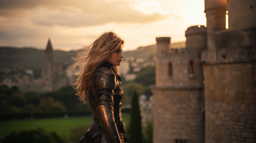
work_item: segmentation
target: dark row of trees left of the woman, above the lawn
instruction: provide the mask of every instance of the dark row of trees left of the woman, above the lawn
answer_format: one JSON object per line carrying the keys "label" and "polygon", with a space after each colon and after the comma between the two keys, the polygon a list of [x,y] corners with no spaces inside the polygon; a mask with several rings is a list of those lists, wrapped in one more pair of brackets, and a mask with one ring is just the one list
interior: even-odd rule
{"label": "dark row of trees left of the woman, above the lawn", "polygon": [[90,111],[89,104],[78,100],[72,86],[54,92],[20,92],[17,87],[0,86],[1,113],[58,113]]}

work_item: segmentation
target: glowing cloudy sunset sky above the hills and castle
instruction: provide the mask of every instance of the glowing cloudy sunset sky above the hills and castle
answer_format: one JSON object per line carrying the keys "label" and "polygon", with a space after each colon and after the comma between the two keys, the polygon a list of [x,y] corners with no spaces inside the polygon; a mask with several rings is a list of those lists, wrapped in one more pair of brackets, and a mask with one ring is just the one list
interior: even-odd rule
{"label": "glowing cloudy sunset sky above the hills and castle", "polygon": [[206,25],[204,0],[0,0],[0,46],[77,50],[113,30],[124,51],[186,41],[190,26]]}

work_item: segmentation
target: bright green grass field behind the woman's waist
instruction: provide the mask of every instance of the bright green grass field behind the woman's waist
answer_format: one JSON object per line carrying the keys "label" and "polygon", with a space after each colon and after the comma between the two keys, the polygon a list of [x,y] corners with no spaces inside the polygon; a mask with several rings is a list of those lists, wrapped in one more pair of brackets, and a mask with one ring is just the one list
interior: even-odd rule
{"label": "bright green grass field behind the woman's waist", "polygon": [[[126,127],[129,122],[129,116],[123,115]],[[59,136],[70,137],[70,130],[79,126],[90,126],[91,117],[72,117],[72,118],[51,118],[51,119],[30,119],[16,121],[0,121],[0,137],[4,137],[11,131],[31,130],[43,128],[48,132],[56,132]],[[87,129],[85,129],[86,132]]]}

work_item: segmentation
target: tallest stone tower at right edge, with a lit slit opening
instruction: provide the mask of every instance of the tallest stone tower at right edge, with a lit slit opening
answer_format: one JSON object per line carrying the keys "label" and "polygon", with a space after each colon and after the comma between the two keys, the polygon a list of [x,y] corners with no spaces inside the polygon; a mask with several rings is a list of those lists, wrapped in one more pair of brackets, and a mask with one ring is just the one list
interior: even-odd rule
{"label": "tallest stone tower at right edge, with a lit slit opening", "polygon": [[205,13],[205,142],[255,143],[256,0],[205,0]]}

